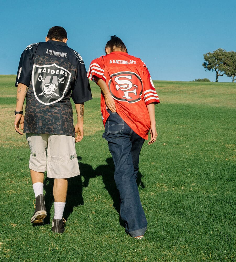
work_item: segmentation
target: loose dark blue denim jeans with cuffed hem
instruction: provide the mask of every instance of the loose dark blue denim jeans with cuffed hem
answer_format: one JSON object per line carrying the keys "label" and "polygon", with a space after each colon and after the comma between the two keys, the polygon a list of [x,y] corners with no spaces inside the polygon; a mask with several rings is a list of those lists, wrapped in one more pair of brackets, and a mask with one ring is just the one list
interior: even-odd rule
{"label": "loose dark blue denim jeans with cuffed hem", "polygon": [[136,183],[139,171],[139,154],[145,139],[136,134],[117,114],[110,113],[103,138],[108,141],[115,173],[114,179],[120,193],[120,217],[131,237],[144,235],[147,220],[141,205]]}

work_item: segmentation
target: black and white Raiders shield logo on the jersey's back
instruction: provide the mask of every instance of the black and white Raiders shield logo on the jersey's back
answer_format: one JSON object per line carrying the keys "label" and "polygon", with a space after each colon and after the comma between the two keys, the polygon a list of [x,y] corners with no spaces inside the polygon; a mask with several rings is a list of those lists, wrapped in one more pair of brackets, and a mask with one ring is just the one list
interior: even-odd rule
{"label": "black and white Raiders shield logo on the jersey's back", "polygon": [[67,91],[71,73],[56,64],[33,66],[32,84],[37,100],[45,105],[60,101]]}

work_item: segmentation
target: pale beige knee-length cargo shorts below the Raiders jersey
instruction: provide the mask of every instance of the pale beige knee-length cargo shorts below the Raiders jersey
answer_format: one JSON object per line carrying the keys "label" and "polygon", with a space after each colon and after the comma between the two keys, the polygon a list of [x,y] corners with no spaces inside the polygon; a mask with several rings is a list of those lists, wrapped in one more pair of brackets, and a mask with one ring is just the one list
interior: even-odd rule
{"label": "pale beige knee-length cargo shorts below the Raiders jersey", "polygon": [[75,138],[68,135],[26,133],[30,147],[29,168],[47,171],[50,178],[69,178],[80,175],[75,151]]}

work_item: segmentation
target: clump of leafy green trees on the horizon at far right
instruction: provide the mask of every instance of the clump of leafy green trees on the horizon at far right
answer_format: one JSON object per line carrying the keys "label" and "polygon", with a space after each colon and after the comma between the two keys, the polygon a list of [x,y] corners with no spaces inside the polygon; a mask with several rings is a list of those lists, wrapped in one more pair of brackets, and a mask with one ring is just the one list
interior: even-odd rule
{"label": "clump of leafy green trees on the horizon at far right", "polygon": [[213,53],[204,54],[203,57],[205,60],[203,67],[216,72],[216,82],[218,82],[218,77],[224,74],[231,77],[234,82],[236,79],[236,53],[234,51],[227,52],[219,48]]}

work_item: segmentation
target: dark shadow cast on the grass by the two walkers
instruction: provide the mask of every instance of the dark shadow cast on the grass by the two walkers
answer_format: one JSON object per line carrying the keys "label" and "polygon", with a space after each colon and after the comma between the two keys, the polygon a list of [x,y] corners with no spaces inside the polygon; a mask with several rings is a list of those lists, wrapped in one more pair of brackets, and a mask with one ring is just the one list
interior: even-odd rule
{"label": "dark shadow cast on the grass by the two walkers", "polygon": [[[65,210],[63,213],[63,217],[67,220],[69,215],[73,212],[74,207],[84,205],[84,200],[82,196],[83,187],[88,187],[89,180],[91,178],[102,176],[102,181],[104,183],[104,189],[107,190],[109,195],[113,200],[113,207],[119,213],[120,211],[120,197],[119,191],[117,190],[116,183],[114,180],[114,163],[112,158],[107,158],[107,164],[98,166],[95,170],[91,165],[81,163],[80,160],[82,158],[78,156],[79,168],[80,168],[80,176],[75,176],[68,179],[68,191],[67,191],[67,199]],[[81,180],[81,176],[84,177],[84,182]],[[137,184],[142,188],[145,188],[145,185],[142,183],[142,174],[138,172]],[[53,205],[53,184],[54,179],[46,177],[44,180],[44,189],[45,189],[45,203],[47,210],[47,217],[44,219],[44,224],[50,224],[51,220],[51,207]],[[124,222],[122,219],[119,219],[120,225],[124,227]]]}

